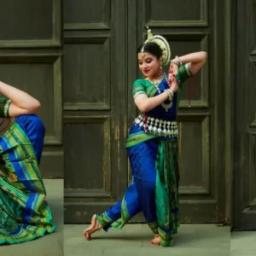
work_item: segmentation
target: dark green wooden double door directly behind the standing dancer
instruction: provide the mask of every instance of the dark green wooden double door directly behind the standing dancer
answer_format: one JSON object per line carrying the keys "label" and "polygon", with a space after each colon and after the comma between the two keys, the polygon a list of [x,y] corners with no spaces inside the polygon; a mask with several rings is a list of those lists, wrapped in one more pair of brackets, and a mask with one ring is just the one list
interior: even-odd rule
{"label": "dark green wooden double door directly behind the standing dancer", "polygon": [[178,111],[181,216],[184,223],[224,221],[224,6],[221,0],[64,1],[66,223],[89,222],[130,183],[125,138],[137,116],[132,84],[141,76],[136,52],[145,26],[168,39],[172,57],[208,53],[195,76],[198,96],[192,93],[189,108],[184,84]]}

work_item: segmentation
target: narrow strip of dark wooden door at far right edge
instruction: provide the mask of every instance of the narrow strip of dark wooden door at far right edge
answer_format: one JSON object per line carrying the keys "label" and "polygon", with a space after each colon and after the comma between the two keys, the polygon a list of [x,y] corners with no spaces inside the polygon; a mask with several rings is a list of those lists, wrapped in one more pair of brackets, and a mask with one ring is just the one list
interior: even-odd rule
{"label": "narrow strip of dark wooden door at far right edge", "polygon": [[232,227],[256,230],[256,1],[236,1],[234,20]]}

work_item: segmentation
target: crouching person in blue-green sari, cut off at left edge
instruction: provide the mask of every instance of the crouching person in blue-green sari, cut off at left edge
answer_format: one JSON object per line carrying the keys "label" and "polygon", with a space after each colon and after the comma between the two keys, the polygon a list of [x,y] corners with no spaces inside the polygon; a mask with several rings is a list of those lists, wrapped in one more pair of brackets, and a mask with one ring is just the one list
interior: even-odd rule
{"label": "crouching person in blue-green sari, cut off at left edge", "polygon": [[45,129],[35,98],[3,82],[0,93],[0,244],[17,244],[55,230],[38,167]]}

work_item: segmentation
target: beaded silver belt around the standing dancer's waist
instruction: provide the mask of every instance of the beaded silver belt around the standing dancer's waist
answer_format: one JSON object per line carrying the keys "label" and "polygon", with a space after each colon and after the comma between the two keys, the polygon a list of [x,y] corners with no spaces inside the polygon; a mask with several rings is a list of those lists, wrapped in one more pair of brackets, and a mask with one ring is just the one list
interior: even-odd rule
{"label": "beaded silver belt around the standing dancer's waist", "polygon": [[134,120],[135,125],[139,125],[147,133],[163,135],[165,137],[177,137],[177,121],[168,121],[163,119],[155,119],[140,114]]}

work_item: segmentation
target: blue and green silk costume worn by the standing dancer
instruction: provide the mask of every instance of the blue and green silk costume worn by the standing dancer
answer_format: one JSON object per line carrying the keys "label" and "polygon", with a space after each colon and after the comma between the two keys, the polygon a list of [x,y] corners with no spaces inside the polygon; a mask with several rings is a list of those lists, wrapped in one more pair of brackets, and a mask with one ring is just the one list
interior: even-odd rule
{"label": "blue and green silk costume worn by the standing dancer", "polygon": [[[177,233],[179,226],[177,107],[182,85],[189,76],[188,64],[179,67],[177,80],[180,83],[172,107],[166,109],[160,105],[143,113],[131,126],[125,147],[131,163],[132,182],[122,200],[97,215],[105,231],[110,227],[121,229],[137,213],[143,212],[150,229],[160,235],[160,244],[173,245],[172,235]],[[162,79],[158,88],[148,80],[138,79],[133,84],[133,95],[153,97],[168,88],[166,79]],[[145,118],[154,119],[158,128],[154,128],[150,120],[145,125]],[[167,123],[169,128],[173,125],[169,133],[165,128]]]}

